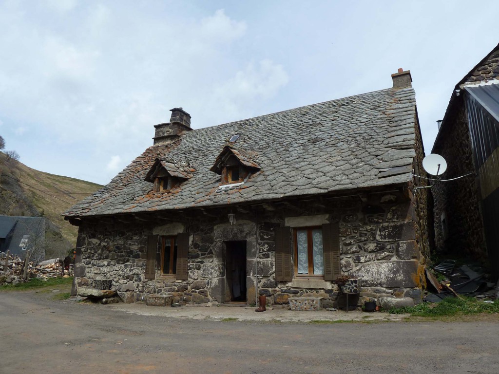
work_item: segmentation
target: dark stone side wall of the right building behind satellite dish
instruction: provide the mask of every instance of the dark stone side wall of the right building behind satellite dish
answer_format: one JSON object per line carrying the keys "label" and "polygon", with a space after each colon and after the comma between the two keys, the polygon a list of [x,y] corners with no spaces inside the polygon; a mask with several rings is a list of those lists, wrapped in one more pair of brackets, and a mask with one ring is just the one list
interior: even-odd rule
{"label": "dark stone side wall of the right building behind satellite dish", "polygon": [[[464,95],[454,100],[454,110],[446,118],[445,128],[441,128],[445,136],[439,136],[433,149],[447,161],[447,171],[442,176],[445,179],[475,171]],[[437,182],[432,187],[432,193],[437,252],[453,257],[469,256],[485,262],[487,250],[477,177]]]}

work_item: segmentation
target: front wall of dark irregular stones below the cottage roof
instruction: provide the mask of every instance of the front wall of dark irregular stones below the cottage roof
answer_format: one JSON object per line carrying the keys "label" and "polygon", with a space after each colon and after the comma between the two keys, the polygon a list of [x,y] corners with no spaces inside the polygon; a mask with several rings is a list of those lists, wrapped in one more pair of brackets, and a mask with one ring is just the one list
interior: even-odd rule
{"label": "front wall of dark irregular stones below the cottage roof", "polygon": [[[389,193],[370,193],[348,198],[307,202],[307,208],[265,208],[238,211],[231,225],[226,214],[190,219],[189,225],[169,223],[141,224],[84,221],[80,226],[81,263],[77,265],[77,284],[92,286],[94,279],[112,279],[113,289],[128,301],[139,301],[144,294],[173,297],[173,303],[204,304],[225,301],[226,241],[245,241],[247,248],[247,299],[267,295],[270,304],[287,304],[289,296],[322,296],[326,306],[341,304],[342,294],[336,285],[323,280],[293,279],[275,281],[275,228],[286,217],[321,215],[338,221],[341,240],[341,269],[362,276],[361,297],[409,296],[421,301],[424,276],[425,244],[417,242],[416,213],[412,195],[400,189]],[[188,228],[187,228],[188,227]],[[187,281],[145,279],[147,237],[188,229],[189,277]],[[173,231],[172,231],[173,230]]]}

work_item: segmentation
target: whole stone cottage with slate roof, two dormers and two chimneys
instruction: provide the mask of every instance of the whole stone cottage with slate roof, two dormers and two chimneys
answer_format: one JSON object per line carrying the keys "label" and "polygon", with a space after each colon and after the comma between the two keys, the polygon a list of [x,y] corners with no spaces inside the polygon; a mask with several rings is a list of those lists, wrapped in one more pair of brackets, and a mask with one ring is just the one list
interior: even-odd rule
{"label": "whole stone cottage with slate roof, two dormers and two chimneys", "polygon": [[422,298],[429,253],[411,74],[393,87],[203,129],[171,110],[154,145],[64,215],[77,286],[133,302],[287,304],[362,277],[361,298]]}

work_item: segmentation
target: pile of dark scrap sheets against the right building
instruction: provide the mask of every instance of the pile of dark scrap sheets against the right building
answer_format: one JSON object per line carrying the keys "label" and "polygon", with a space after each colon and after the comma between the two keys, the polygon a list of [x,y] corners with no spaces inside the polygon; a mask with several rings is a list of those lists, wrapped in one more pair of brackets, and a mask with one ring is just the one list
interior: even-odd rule
{"label": "pile of dark scrap sheets against the right building", "polygon": [[[495,299],[496,284],[480,265],[463,265],[456,269],[456,260],[445,260],[433,268],[445,278],[439,281],[432,270],[426,269],[429,294],[425,301],[438,303],[446,297],[472,296],[477,299]],[[431,287],[430,287],[431,285]]]}

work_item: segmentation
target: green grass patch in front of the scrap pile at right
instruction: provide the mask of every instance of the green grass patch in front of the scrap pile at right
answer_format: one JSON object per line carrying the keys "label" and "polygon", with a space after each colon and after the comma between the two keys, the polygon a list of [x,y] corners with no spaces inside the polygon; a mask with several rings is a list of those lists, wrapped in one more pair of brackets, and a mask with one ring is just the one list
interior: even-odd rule
{"label": "green grass patch in front of the scrap pile at right", "polygon": [[392,314],[410,313],[413,317],[445,317],[464,316],[480,313],[499,313],[499,300],[494,303],[477,301],[473,297],[446,298],[438,304],[421,303],[414,307],[392,308],[388,310]]}

